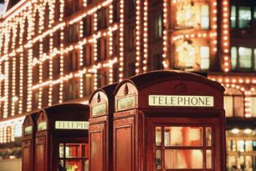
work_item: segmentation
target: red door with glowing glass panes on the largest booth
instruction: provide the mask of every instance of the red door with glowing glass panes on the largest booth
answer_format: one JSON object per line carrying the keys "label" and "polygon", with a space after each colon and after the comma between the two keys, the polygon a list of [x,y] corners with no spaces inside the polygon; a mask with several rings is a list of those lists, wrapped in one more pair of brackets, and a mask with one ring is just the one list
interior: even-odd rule
{"label": "red door with glowing glass panes on the largest booth", "polygon": [[146,170],[221,170],[218,118],[147,117]]}

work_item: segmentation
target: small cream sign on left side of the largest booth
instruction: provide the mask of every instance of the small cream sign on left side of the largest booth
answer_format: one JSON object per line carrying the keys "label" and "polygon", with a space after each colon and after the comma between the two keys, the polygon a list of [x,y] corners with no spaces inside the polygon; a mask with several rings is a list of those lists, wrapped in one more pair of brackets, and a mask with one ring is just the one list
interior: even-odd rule
{"label": "small cream sign on left side of the largest booth", "polygon": [[126,98],[120,98],[117,100],[117,111],[122,111],[129,108],[135,108],[135,106],[136,106],[135,95],[132,95]]}

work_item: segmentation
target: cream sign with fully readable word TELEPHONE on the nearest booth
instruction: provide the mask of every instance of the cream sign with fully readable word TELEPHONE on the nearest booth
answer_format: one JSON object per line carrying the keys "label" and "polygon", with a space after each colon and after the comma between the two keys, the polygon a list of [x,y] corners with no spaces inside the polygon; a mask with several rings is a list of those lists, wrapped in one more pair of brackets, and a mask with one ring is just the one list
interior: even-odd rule
{"label": "cream sign with fully readable word TELEPHONE on the nearest booth", "polygon": [[148,106],[214,107],[214,97],[196,95],[148,95]]}

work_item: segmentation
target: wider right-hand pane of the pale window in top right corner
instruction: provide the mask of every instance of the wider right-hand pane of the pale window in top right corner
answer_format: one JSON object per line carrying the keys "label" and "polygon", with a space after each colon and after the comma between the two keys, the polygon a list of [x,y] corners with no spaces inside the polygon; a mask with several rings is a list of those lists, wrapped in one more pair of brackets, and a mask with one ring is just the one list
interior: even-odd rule
{"label": "wider right-hand pane of the pale window in top right corner", "polygon": [[239,7],[239,28],[250,28],[252,13],[250,7]]}

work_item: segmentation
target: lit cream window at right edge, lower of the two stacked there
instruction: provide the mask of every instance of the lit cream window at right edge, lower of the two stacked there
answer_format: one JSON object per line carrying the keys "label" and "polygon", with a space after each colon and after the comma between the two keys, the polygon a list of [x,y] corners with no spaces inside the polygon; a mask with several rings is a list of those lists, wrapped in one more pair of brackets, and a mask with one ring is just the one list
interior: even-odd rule
{"label": "lit cream window at right edge, lower of the two stacked there", "polygon": [[256,71],[255,58],[256,49],[253,54],[250,47],[231,47],[231,66],[233,71]]}

